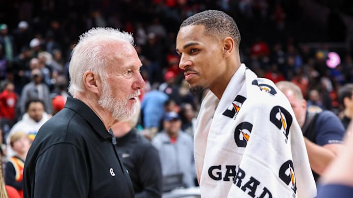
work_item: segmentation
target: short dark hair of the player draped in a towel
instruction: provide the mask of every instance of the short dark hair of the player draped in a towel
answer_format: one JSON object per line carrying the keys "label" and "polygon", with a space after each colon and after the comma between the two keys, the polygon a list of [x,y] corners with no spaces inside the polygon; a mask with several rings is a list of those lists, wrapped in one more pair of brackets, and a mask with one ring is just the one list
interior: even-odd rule
{"label": "short dark hair of the player draped in a towel", "polygon": [[238,26],[232,17],[222,11],[206,10],[197,13],[183,21],[180,28],[189,25],[203,25],[206,33],[217,35],[221,38],[231,37],[235,46],[239,47],[240,33]]}

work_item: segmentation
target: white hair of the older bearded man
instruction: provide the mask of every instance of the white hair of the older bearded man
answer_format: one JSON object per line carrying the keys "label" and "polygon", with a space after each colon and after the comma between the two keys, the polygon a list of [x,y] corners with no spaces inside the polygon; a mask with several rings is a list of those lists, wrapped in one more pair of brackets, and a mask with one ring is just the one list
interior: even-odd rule
{"label": "white hair of the older bearded man", "polygon": [[102,83],[106,83],[107,72],[105,67],[109,63],[109,58],[104,50],[109,49],[106,49],[105,45],[122,41],[134,45],[131,33],[111,27],[94,27],[79,37],[69,65],[71,79],[69,92],[74,97],[77,92],[84,91],[82,79],[86,71],[96,72],[101,77]]}

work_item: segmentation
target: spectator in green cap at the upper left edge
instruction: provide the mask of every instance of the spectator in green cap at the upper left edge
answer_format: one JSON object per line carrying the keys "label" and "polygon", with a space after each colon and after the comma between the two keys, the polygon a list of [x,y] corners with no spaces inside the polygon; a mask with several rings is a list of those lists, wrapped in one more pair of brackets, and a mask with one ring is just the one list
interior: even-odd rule
{"label": "spectator in green cap at the upper left edge", "polygon": [[8,27],[5,23],[0,24],[0,44],[3,47],[6,60],[12,63],[16,53],[14,39],[11,35],[8,35]]}

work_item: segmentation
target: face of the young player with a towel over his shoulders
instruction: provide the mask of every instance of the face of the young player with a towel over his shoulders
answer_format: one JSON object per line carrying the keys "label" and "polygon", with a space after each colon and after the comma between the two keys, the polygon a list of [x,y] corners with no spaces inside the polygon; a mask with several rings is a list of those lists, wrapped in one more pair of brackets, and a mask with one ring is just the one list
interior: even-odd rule
{"label": "face of the young player with a towel over his shoulders", "polygon": [[205,34],[203,25],[180,28],[176,37],[179,67],[192,89],[217,88],[217,80],[227,72],[223,59],[223,41]]}

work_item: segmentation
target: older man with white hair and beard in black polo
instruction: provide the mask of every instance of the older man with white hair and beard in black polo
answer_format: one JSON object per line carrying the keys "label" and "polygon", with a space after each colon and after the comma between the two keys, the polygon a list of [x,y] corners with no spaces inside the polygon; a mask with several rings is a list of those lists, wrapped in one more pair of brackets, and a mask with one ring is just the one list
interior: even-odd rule
{"label": "older man with white hair and beard in black polo", "polygon": [[25,198],[134,197],[109,130],[136,111],[141,66],[129,33],[93,28],[80,36],[69,66],[73,97],[32,143]]}

